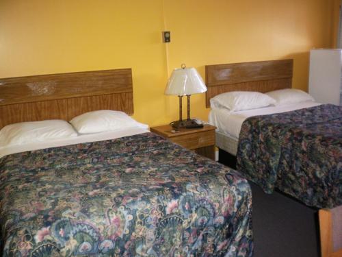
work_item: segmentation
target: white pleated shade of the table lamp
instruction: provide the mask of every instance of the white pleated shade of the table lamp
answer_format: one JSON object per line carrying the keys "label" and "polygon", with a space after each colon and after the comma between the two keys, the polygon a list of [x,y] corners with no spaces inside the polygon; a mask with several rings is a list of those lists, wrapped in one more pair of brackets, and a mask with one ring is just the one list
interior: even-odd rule
{"label": "white pleated shade of the table lamp", "polygon": [[194,95],[205,91],[205,82],[195,68],[174,69],[166,84],[165,95]]}

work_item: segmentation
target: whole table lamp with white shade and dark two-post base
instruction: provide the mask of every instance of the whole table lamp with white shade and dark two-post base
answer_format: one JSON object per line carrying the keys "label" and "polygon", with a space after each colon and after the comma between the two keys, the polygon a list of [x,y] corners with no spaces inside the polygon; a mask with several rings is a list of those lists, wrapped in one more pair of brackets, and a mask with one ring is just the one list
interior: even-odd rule
{"label": "whole table lamp with white shade and dark two-post base", "polygon": [[[195,68],[187,68],[185,64],[181,69],[174,69],[168,84],[166,84],[165,95],[178,95],[179,97],[179,121],[172,121],[170,125],[175,129],[196,127],[197,123],[190,119],[190,95],[205,93],[207,87],[202,77]],[[187,96],[187,119],[182,119],[182,97]]]}

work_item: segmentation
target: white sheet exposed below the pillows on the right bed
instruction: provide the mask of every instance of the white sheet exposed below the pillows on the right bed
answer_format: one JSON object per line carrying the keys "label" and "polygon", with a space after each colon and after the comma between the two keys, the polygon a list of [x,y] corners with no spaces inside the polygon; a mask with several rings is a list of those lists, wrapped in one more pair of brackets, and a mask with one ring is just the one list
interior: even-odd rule
{"label": "white sheet exposed below the pillows on the right bed", "polygon": [[239,112],[230,112],[228,109],[224,108],[212,109],[209,113],[209,124],[214,125],[218,128],[218,131],[227,136],[233,136],[233,138],[238,139],[242,123],[244,123],[248,117],[289,112],[292,110],[319,106],[320,104],[321,103],[314,101],[304,101],[302,103],[291,103],[285,106],[269,106],[253,110],[242,110]]}

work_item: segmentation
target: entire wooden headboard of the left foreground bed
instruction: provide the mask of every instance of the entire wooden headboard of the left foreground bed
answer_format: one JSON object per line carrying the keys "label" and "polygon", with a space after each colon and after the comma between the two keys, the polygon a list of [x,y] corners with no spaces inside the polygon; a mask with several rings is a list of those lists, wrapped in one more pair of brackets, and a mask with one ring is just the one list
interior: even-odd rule
{"label": "entire wooden headboard of the left foreground bed", "polygon": [[133,114],[131,69],[0,79],[0,128],[102,109]]}

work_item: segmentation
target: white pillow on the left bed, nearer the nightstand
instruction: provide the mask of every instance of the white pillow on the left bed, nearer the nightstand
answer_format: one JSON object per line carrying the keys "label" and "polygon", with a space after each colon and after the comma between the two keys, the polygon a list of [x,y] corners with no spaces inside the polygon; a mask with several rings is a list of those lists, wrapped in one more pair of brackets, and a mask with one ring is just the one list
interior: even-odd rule
{"label": "white pillow on the left bed, nearer the nightstand", "polygon": [[72,119],[70,123],[75,127],[79,134],[124,130],[129,127],[148,128],[148,125],[135,121],[124,112],[114,110],[86,112]]}

